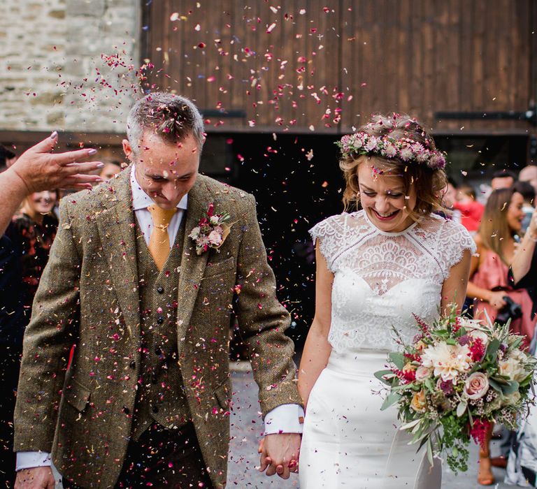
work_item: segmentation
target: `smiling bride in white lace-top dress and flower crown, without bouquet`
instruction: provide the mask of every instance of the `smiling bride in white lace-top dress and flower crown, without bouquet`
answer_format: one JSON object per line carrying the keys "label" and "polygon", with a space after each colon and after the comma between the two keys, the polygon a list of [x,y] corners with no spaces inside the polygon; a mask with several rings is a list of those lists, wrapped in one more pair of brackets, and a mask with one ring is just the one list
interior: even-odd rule
{"label": "smiling bride in white lace-top dress and flower crown, without bouquet", "polygon": [[420,488],[441,486],[396,408],[381,411],[387,352],[417,333],[413,314],[433,321],[464,302],[473,240],[441,209],[445,159],[410,117],[376,115],[338,143],[345,210],[314,226],[315,318],[303,349],[299,391],[306,407],[300,486]]}

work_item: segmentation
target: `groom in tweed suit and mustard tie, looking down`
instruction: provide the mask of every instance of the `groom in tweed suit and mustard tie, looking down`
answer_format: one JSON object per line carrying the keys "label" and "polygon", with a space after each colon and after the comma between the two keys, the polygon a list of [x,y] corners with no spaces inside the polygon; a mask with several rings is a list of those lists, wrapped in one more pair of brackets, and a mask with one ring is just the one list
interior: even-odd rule
{"label": "groom in tweed suit and mustard tie, looking down", "polygon": [[[131,166],[60,205],[24,335],[19,487],[52,487],[52,460],[71,488],[222,488],[232,312],[259,385],[267,474],[289,476],[301,400],[255,200],[198,174],[203,122],[187,98],[145,96],[127,138]],[[202,228],[196,252],[192,231],[219,214],[229,219]]]}

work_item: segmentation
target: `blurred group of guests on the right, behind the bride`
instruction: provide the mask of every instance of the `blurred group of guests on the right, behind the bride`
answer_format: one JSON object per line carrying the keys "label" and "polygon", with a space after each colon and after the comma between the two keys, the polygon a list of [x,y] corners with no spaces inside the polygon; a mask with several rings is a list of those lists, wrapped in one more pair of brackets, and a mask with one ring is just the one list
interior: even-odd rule
{"label": "blurred group of guests on the right, behind the bride", "polygon": [[[537,240],[537,166],[524,167],[518,175],[497,171],[478,192],[471,184],[457,186],[451,180],[444,196],[447,218],[466,227],[477,245],[466,291],[466,315],[510,321],[510,329],[525,335],[526,348],[535,354],[537,269],[532,263]],[[501,454],[496,457],[490,456],[492,437],[501,439]],[[519,432],[502,427],[489,430],[480,450],[478,482],[492,485],[491,467],[499,467],[507,471],[506,482],[535,487],[536,449],[537,433],[530,432],[528,423]]]}

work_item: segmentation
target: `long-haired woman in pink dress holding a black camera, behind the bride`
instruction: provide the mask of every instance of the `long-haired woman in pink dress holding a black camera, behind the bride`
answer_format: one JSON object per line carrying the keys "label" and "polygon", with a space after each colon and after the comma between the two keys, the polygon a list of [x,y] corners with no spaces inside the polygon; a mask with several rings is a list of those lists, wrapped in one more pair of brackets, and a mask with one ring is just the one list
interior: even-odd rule
{"label": "long-haired woman in pink dress holding a black camera, behind the bride", "polygon": [[[521,232],[524,218],[523,203],[524,198],[514,189],[494,190],[490,194],[478,234],[475,235],[478,252],[472,257],[466,294],[474,299],[475,319],[485,319],[486,310],[491,321],[495,321],[499,312],[513,311],[508,304],[510,300],[520,305],[522,315],[513,315],[510,327],[513,332],[526,335],[526,344],[529,344],[535,326],[531,317],[531,298],[527,290],[515,290],[508,283],[509,265],[515,256],[515,235]],[[501,458],[491,461],[488,448],[491,435],[492,428],[487,433],[485,448],[480,450],[478,482],[483,486],[494,483],[491,465],[506,465],[506,460]]]}

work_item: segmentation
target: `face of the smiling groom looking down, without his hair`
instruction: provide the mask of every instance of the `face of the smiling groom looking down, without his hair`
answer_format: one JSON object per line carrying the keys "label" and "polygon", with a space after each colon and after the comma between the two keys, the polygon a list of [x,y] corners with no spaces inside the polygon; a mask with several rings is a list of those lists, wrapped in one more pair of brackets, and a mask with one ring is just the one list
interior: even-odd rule
{"label": "face of the smiling groom looking down, without his hair", "polygon": [[138,184],[163,209],[176,207],[196,182],[200,151],[192,134],[178,143],[168,143],[145,132],[136,152],[127,140],[123,148],[134,163]]}

